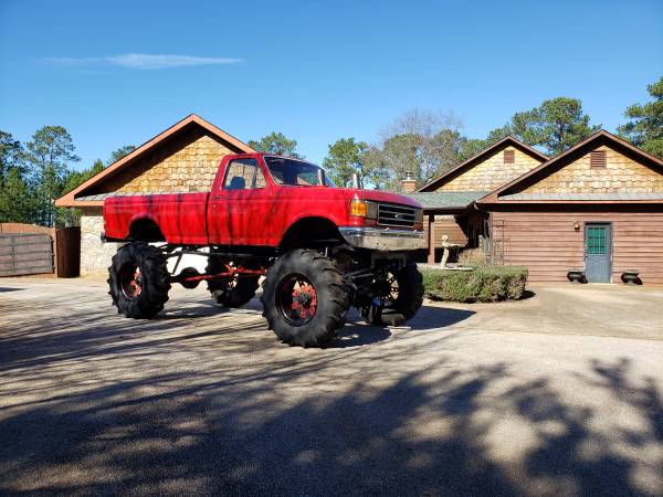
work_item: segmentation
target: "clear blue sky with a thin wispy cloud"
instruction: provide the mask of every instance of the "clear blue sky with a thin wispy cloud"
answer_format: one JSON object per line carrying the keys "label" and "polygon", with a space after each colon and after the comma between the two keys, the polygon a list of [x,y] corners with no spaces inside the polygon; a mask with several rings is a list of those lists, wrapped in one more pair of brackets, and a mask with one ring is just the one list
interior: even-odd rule
{"label": "clear blue sky with a thin wispy cloud", "polygon": [[315,161],[414,107],[483,138],[564,95],[613,130],[661,75],[660,0],[0,0],[0,129],[62,125],[78,167],[190,113],[243,140],[282,131]]}

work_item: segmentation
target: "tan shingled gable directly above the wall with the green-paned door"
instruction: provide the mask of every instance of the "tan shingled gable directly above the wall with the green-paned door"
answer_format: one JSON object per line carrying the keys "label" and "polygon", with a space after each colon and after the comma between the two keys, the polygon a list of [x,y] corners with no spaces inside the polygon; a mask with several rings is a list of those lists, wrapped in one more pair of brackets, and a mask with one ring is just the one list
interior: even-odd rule
{"label": "tan shingled gable directly above the wall with the green-paned door", "polygon": [[523,190],[523,193],[651,193],[663,192],[663,175],[608,146],[606,167],[591,167],[591,151]]}

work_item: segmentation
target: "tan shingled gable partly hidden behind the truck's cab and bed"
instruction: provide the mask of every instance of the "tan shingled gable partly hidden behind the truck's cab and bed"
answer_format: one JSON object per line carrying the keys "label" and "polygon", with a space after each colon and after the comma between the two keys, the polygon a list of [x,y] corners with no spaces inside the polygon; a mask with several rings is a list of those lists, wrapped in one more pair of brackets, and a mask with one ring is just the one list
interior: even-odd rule
{"label": "tan shingled gable partly hidden behind the truck's cab and bed", "polygon": [[210,191],[223,156],[233,154],[220,139],[193,128],[158,147],[91,193]]}

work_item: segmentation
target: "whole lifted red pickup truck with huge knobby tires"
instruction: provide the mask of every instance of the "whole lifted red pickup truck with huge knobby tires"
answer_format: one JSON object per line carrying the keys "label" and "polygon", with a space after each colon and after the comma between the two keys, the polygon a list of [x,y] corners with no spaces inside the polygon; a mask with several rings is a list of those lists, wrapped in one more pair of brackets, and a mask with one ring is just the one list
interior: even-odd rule
{"label": "whole lifted red pickup truck with huge knobby tires", "polygon": [[[261,297],[284,342],[320,347],[350,306],[371,322],[412,318],[423,284],[409,252],[423,243],[423,211],[394,193],[336,188],[316,165],[269,154],[227,156],[209,193],[106,199],[104,240],[128,242],[113,257],[108,284],[119,313],[151,318],[171,283],[201,281],[218,303]],[[185,254],[207,271],[178,271]],[[176,257],[175,268],[167,261]]]}

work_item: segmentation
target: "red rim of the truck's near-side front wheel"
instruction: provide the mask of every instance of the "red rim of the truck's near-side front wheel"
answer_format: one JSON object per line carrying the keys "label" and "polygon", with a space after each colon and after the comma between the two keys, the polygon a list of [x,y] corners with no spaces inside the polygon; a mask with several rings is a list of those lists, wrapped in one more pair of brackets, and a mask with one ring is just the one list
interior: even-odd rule
{"label": "red rim of the truck's near-side front wheel", "polygon": [[306,325],[317,310],[315,285],[301,274],[286,276],[278,285],[276,305],[288,324]]}

